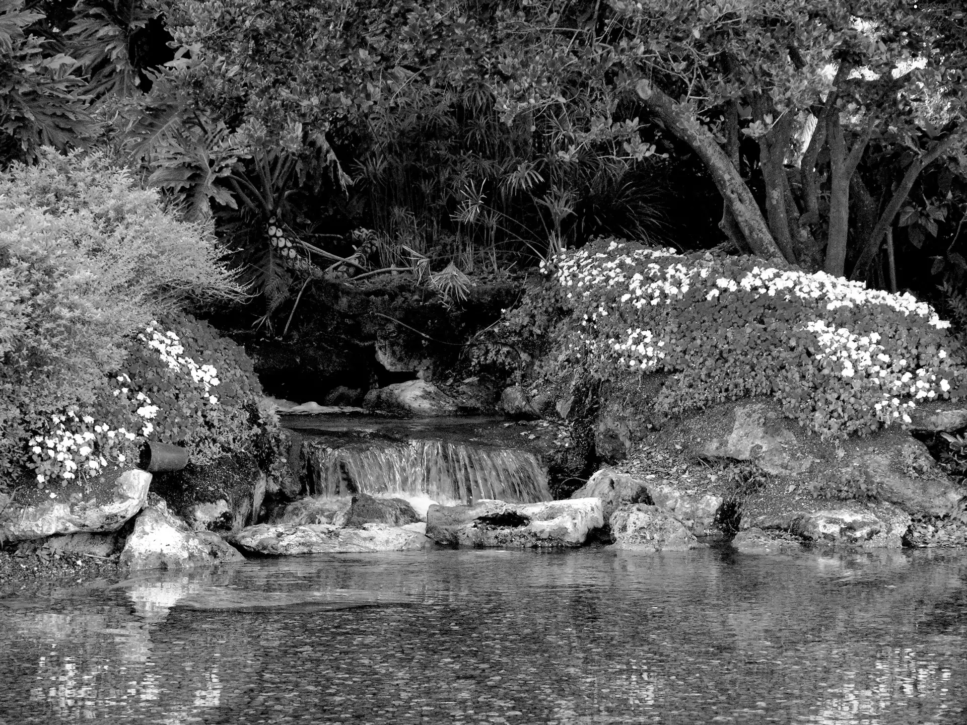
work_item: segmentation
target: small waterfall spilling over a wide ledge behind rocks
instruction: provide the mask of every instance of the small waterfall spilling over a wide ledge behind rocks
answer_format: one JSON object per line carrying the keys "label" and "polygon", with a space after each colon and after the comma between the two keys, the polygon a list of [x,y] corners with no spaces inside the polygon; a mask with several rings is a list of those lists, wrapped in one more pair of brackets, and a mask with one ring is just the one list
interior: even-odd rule
{"label": "small waterfall spilling over a wide ledge behind rocks", "polygon": [[428,498],[444,505],[480,499],[550,501],[547,472],[525,450],[437,440],[307,441],[303,458],[310,494],[347,496],[354,484],[370,495]]}

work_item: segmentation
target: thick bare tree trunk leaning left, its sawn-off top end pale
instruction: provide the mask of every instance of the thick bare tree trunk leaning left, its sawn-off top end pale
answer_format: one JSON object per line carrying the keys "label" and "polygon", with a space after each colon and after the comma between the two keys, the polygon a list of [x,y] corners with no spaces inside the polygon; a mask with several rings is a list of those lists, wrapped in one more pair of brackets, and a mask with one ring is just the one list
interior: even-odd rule
{"label": "thick bare tree trunk leaning left, its sawn-off top end pale", "polygon": [[681,110],[678,103],[650,81],[639,80],[636,90],[648,111],[657,116],[669,131],[689,144],[705,164],[752,251],[766,259],[784,258],[759,211],[755,197],[739,170],[719,148],[712,132],[703,127],[698,119]]}

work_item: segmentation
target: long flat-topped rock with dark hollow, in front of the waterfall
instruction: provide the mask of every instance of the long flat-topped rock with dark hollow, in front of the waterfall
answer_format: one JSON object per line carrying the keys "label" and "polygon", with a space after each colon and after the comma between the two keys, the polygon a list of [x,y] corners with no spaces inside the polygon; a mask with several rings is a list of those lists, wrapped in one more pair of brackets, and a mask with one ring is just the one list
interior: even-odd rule
{"label": "long flat-topped rock with dark hollow, in front of the waterfall", "polygon": [[426,532],[439,543],[460,546],[580,546],[604,523],[597,498],[474,506],[429,507]]}

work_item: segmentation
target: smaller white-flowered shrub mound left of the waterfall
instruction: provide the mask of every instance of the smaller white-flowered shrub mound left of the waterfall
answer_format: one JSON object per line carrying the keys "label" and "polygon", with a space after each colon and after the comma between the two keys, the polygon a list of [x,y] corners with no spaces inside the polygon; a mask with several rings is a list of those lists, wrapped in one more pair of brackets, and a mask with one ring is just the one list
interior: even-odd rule
{"label": "smaller white-flowered shrub mound left of the waterfall", "polygon": [[262,390],[245,351],[190,315],[149,323],[131,340],[124,369],[103,381],[89,413],[52,415],[30,438],[39,484],[123,464],[145,440],[185,446],[204,465],[252,449],[277,427],[258,410]]}

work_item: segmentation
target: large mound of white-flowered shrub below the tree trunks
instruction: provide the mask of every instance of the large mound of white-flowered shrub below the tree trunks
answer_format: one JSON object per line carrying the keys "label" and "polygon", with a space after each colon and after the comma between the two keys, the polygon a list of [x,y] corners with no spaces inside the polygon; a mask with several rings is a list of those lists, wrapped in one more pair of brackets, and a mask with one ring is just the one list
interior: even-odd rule
{"label": "large mound of white-flowered shrub below the tree trunks", "polygon": [[568,362],[599,379],[672,373],[658,399],[666,414],[773,395],[790,418],[844,436],[967,392],[949,323],[909,294],[615,240],[542,267],[555,284],[537,304],[570,312]]}

